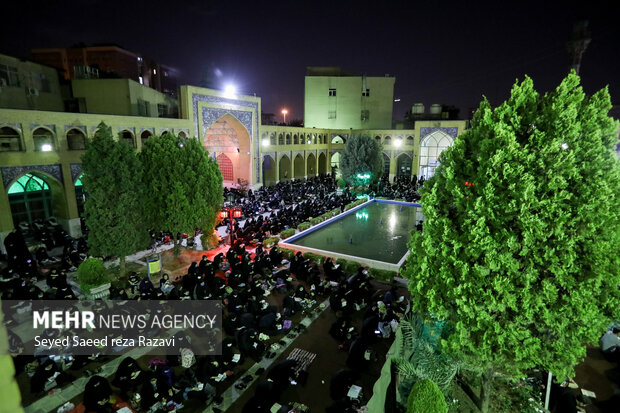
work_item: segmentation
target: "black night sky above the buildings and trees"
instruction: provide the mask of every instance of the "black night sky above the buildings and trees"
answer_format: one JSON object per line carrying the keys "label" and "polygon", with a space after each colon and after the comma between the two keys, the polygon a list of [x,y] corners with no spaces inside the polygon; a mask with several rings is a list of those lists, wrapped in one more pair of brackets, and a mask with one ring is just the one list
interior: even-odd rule
{"label": "black night sky above the buildings and trees", "polygon": [[[508,4],[509,3],[509,4]],[[584,4],[581,4],[584,3]],[[61,6],[62,5],[62,6]],[[620,103],[620,1],[8,1],[0,52],[116,43],[179,70],[181,84],[235,83],[263,112],[303,118],[307,66],[396,76],[394,118],[413,103],[503,101],[528,74],[539,91],[567,73],[573,24],[589,20],[587,93]],[[614,21],[616,20],[616,21]]]}

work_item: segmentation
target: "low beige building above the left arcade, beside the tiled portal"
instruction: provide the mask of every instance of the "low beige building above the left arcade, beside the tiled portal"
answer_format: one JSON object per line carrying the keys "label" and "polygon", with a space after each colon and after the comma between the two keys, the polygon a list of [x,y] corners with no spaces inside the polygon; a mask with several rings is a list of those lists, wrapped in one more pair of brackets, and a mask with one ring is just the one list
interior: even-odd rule
{"label": "low beige building above the left arcade, beside the tiled portal", "polygon": [[178,113],[176,99],[130,79],[76,79],[71,87],[75,98],[84,99],[86,113],[157,118],[158,105],[166,108],[161,117]]}

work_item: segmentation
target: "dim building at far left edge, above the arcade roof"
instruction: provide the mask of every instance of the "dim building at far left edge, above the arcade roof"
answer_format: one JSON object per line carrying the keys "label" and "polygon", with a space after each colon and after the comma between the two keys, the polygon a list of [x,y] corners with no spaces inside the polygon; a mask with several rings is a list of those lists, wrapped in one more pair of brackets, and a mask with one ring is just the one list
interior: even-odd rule
{"label": "dim building at far left edge, above the arcade roof", "polygon": [[[7,78],[8,71],[12,74]],[[52,67],[0,55],[0,79],[4,79],[0,80],[0,108],[64,110],[58,74]]]}

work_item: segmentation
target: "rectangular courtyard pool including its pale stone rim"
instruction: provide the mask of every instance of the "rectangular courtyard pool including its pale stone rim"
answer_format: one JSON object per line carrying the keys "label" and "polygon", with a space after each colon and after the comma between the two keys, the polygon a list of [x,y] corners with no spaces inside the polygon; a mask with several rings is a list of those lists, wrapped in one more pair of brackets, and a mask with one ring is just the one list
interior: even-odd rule
{"label": "rectangular courtyard pool including its pale stone rim", "polygon": [[281,246],[397,270],[408,253],[411,230],[420,219],[419,204],[372,200],[281,242]]}

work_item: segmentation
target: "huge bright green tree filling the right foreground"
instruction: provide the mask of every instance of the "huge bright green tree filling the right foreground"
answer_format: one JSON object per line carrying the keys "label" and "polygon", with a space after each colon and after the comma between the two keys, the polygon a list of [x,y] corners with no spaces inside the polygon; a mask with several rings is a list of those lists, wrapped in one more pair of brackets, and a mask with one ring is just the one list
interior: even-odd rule
{"label": "huge bright green tree filling the right foreground", "polygon": [[445,320],[443,351],[482,372],[538,367],[560,378],[620,316],[618,123],[607,89],[569,74],[539,95],[516,83],[441,154],[422,191],[404,275],[414,310]]}

